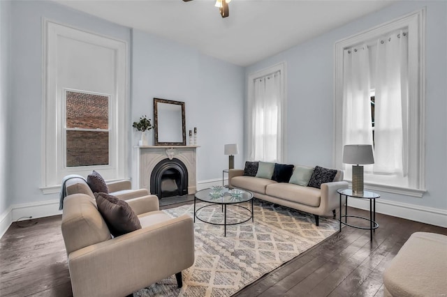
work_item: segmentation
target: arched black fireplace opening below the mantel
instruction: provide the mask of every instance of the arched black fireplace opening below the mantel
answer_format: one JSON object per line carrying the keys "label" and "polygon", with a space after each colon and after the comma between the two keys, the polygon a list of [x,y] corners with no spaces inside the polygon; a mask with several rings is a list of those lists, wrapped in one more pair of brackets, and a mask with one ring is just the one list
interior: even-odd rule
{"label": "arched black fireplace opening below the mantel", "polygon": [[188,170],[177,158],[161,160],[152,170],[151,194],[163,197],[188,194]]}

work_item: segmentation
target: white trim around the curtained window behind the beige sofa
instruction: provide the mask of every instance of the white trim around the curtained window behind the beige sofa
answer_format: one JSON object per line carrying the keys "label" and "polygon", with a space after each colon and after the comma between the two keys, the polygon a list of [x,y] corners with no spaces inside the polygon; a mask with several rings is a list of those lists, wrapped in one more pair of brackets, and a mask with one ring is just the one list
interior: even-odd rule
{"label": "white trim around the curtained window behind the beige sofa", "polygon": [[277,160],[277,162],[285,162],[285,160],[287,160],[287,148],[286,148],[286,144],[287,144],[287,93],[286,93],[286,88],[287,88],[287,68],[286,68],[286,62],[281,62],[281,63],[277,63],[273,66],[270,66],[268,68],[263,68],[261,70],[258,70],[254,73],[250,73],[248,75],[248,79],[247,79],[247,84],[248,84],[248,98],[247,98],[247,135],[249,135],[248,137],[248,145],[247,145],[247,150],[246,150],[246,155],[247,158],[250,155],[250,151],[251,151],[251,147],[253,146],[253,144],[251,143],[251,131],[250,131],[250,127],[251,127],[251,121],[252,121],[252,116],[251,116],[251,110],[253,107],[253,101],[254,101],[254,80],[258,79],[260,77],[264,77],[266,75],[270,75],[272,73],[276,73],[277,71],[279,71],[281,73],[281,102],[282,102],[282,109],[281,109],[281,129],[283,131],[283,135],[282,135],[282,160]]}

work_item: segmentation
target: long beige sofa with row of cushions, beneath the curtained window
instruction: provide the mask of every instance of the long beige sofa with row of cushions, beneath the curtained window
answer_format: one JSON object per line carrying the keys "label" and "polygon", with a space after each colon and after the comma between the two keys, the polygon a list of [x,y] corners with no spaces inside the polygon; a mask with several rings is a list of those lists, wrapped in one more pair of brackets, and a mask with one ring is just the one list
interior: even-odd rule
{"label": "long beige sofa with row of cushions, beneath the curtained window", "polygon": [[[334,181],[322,183],[321,189],[304,187],[293,183],[277,183],[267,178],[244,176],[243,169],[230,169],[228,172],[228,185],[242,188],[253,193],[254,197],[270,201],[282,206],[312,213],[315,224],[318,226],[319,216],[333,215],[339,210],[338,189],[348,188],[348,183],[343,181],[343,172],[337,170]],[[343,197],[342,204],[344,204]]]}

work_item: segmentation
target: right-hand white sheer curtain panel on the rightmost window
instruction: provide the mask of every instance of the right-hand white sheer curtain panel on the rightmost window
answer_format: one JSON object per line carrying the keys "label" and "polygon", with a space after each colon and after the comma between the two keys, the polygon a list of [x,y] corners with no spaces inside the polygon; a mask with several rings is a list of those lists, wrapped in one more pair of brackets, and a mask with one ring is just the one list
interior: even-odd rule
{"label": "right-hand white sheer curtain panel on the rightmost window", "polygon": [[404,31],[377,41],[374,173],[407,173],[408,36]]}

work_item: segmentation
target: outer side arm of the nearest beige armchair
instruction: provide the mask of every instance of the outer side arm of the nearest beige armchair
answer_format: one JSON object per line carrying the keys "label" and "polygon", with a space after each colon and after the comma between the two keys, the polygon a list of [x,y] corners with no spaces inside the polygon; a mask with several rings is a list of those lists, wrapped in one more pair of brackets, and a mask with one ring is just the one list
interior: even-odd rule
{"label": "outer side arm of the nearest beige armchair", "polygon": [[189,215],[90,245],[68,255],[73,296],[126,296],[194,262]]}

